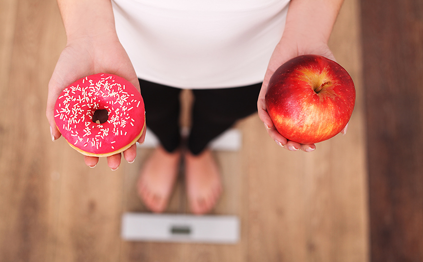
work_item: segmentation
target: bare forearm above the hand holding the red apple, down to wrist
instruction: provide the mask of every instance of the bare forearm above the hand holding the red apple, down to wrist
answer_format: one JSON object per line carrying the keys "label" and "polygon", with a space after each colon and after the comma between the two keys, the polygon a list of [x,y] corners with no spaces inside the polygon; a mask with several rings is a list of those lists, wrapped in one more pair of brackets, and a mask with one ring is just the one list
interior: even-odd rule
{"label": "bare forearm above the hand holding the red apple, down to wrist", "polygon": [[343,0],[291,0],[284,37],[327,43]]}

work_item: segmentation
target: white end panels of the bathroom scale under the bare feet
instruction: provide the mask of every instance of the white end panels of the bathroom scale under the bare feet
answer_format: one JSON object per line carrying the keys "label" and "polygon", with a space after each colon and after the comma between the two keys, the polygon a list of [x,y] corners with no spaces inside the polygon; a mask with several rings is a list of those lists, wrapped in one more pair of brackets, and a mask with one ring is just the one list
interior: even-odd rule
{"label": "white end panels of the bathroom scale under the bare feet", "polygon": [[[158,140],[149,129],[138,148],[154,148]],[[188,134],[187,130],[181,131]],[[211,141],[212,150],[237,151],[241,133],[230,129]],[[236,216],[125,213],[122,216],[122,239],[126,241],[186,242],[234,244],[240,238],[240,221]]]}

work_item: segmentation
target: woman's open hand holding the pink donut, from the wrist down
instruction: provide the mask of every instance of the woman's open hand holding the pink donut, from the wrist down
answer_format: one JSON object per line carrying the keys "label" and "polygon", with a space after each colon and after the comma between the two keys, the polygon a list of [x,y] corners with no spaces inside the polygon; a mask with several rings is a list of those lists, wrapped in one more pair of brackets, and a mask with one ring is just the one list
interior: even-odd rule
{"label": "woman's open hand holding the pink donut, from the wrist down", "polygon": [[[134,67],[114,33],[94,35],[69,39],[63,49],[53,75],[48,84],[46,116],[50,124],[52,140],[60,137],[60,132],[54,120],[54,106],[59,94],[68,85],[87,75],[109,73],[119,75],[130,81],[139,91],[139,82]],[[141,138],[145,138],[145,129]],[[125,160],[132,163],[136,156],[136,146],[133,145],[123,152]],[[107,163],[112,170],[120,165],[120,153],[107,157]],[[87,166],[95,167],[98,157],[84,156]]]}

